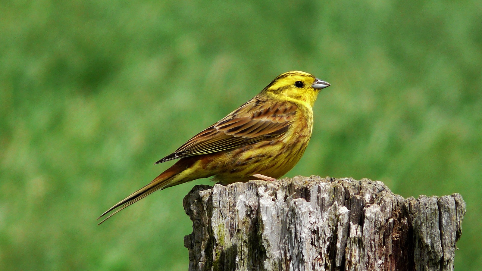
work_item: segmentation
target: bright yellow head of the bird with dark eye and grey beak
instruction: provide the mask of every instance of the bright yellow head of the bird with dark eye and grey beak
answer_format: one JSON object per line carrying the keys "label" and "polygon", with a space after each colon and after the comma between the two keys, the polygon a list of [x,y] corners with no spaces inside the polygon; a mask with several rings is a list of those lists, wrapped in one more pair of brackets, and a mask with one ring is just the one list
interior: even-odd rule
{"label": "bright yellow head of the bird with dark eye and grey beak", "polygon": [[274,95],[281,99],[303,103],[312,108],[320,90],[328,86],[330,86],[328,82],[322,81],[312,74],[292,70],[276,77],[263,89],[261,94]]}

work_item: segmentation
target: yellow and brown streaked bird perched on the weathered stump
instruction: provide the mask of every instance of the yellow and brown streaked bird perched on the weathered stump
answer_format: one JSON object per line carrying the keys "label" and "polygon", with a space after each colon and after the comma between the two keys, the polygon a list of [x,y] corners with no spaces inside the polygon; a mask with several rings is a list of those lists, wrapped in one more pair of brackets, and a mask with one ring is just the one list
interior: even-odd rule
{"label": "yellow and brown streaked bird perched on the weathered stump", "polygon": [[155,164],[179,159],[143,188],[110,207],[98,225],[157,190],[199,178],[227,185],[274,181],[300,160],[313,131],[313,105],[330,86],[310,73],[277,76],[258,95]]}

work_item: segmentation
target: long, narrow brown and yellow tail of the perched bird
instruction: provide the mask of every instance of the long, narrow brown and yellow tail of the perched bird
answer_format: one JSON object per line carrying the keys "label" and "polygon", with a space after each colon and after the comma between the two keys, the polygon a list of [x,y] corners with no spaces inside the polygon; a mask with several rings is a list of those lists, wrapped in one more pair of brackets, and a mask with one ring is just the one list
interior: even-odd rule
{"label": "long, narrow brown and yellow tail of the perched bird", "polygon": [[117,214],[118,212],[128,207],[129,205],[143,199],[144,197],[147,197],[149,194],[151,194],[154,191],[162,190],[162,189],[171,187],[173,185],[188,181],[188,180],[186,181],[176,180],[176,176],[178,176],[179,173],[181,173],[188,167],[185,163],[180,163],[180,162],[181,161],[178,161],[177,163],[175,163],[173,166],[171,166],[166,171],[164,171],[159,176],[157,176],[155,179],[153,179],[145,187],[135,191],[134,193],[130,194],[127,198],[121,200],[119,203],[110,207],[107,211],[105,211],[102,215],[100,215],[100,217],[97,217],[97,220],[100,219],[101,217],[104,217],[114,209],[116,208],[118,209],[115,210],[112,214],[108,215],[102,221],[100,221],[99,224],[97,225],[104,223],[104,221],[106,221],[113,215]]}

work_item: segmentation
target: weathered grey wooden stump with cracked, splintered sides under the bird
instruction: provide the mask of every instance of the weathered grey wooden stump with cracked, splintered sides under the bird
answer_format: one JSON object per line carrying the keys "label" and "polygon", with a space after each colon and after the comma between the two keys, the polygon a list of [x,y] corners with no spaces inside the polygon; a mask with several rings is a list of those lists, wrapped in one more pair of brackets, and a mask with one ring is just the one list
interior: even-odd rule
{"label": "weathered grey wooden stump with cracked, splintered sides under the bird", "polygon": [[404,199],[319,176],[198,185],[184,198],[189,271],[453,270],[459,194]]}

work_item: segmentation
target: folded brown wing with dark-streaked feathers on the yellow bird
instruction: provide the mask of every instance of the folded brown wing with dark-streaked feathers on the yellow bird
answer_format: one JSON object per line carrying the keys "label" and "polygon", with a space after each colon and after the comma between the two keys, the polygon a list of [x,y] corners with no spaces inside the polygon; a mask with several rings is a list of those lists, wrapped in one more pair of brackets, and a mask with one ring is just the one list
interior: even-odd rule
{"label": "folded brown wing with dark-streaked feathers on the yellow bird", "polygon": [[156,163],[240,148],[281,136],[290,127],[296,109],[291,102],[267,103],[265,98],[254,97]]}

